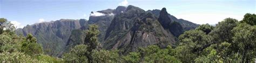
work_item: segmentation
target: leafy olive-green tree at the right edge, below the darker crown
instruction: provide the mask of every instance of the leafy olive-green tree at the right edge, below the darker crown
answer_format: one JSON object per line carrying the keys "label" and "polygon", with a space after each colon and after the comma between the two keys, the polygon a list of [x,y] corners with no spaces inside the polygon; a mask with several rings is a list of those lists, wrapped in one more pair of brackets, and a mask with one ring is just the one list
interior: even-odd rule
{"label": "leafy olive-green tree at the right edge, below the darker crown", "polygon": [[242,51],[242,62],[249,62],[255,58],[253,49],[256,46],[256,26],[245,23],[239,24],[232,32],[234,33],[233,42],[238,44],[239,50]]}

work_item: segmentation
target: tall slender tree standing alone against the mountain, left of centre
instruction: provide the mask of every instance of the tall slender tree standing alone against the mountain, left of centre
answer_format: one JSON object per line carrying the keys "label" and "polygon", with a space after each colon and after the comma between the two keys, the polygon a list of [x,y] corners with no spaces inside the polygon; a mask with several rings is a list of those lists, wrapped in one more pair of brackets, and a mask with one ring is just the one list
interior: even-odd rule
{"label": "tall slender tree standing alone against the mountain, left of centre", "polygon": [[86,37],[84,39],[84,44],[87,45],[87,52],[86,52],[86,57],[89,62],[93,61],[92,58],[92,50],[95,50],[99,47],[98,43],[98,35],[99,35],[99,30],[98,26],[93,24],[89,26],[89,30],[86,31]]}

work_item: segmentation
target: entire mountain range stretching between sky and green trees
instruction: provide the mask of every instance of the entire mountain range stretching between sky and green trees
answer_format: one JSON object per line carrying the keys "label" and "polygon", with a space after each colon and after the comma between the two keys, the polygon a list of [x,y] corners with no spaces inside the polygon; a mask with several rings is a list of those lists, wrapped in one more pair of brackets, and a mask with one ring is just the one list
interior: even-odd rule
{"label": "entire mountain range stretching between sky and green trees", "polygon": [[84,31],[91,24],[99,26],[98,39],[103,48],[123,50],[124,54],[149,45],[175,46],[181,33],[199,26],[177,19],[165,8],[145,11],[129,5],[91,12],[89,20],[60,19],[27,25],[17,29],[16,33],[22,36],[31,33],[42,44],[46,54],[61,57],[71,47],[83,43]]}

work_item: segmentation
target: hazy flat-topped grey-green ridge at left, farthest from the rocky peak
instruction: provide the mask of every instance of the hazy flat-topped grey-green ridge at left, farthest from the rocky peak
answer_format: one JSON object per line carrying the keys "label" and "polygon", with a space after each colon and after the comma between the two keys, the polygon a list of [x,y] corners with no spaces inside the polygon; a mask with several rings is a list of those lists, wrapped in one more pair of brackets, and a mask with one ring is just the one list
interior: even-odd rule
{"label": "hazy flat-topped grey-green ridge at left, farthest from the rocky peak", "polygon": [[46,53],[57,56],[62,51],[66,41],[68,41],[71,31],[86,25],[85,22],[85,19],[60,19],[55,22],[27,25],[16,32],[24,36],[29,33],[33,34],[37,38],[37,42],[43,45],[44,49],[52,49]]}

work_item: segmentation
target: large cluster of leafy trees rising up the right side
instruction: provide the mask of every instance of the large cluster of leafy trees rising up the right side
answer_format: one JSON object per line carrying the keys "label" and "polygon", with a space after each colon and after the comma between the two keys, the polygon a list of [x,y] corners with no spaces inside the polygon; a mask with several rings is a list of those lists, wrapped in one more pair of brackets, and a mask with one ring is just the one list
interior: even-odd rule
{"label": "large cluster of leafy trees rising up the right side", "polygon": [[252,62],[256,44],[253,17],[247,13],[241,22],[226,18],[216,27],[206,24],[186,31],[179,37],[175,56],[183,62]]}

